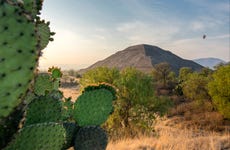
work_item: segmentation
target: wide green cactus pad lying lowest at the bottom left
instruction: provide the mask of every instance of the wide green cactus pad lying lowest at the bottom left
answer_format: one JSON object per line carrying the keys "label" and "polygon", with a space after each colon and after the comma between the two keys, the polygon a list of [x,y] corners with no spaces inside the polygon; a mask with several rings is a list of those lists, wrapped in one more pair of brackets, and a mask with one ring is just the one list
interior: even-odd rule
{"label": "wide green cactus pad lying lowest at the bottom left", "polygon": [[34,124],[22,128],[5,150],[60,150],[66,131],[57,123]]}

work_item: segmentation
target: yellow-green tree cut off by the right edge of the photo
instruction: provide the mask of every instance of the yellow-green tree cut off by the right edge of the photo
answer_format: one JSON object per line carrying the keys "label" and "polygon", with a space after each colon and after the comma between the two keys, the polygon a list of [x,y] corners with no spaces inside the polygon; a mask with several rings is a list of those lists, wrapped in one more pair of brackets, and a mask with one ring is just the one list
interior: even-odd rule
{"label": "yellow-green tree cut off by the right edge of the photo", "polygon": [[230,64],[219,66],[212,77],[209,94],[220,113],[230,119]]}

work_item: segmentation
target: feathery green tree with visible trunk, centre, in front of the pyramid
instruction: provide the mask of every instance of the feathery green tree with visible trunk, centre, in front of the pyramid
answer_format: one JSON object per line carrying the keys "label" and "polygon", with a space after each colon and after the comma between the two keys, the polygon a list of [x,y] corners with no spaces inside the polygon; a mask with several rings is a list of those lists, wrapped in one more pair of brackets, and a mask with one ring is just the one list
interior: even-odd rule
{"label": "feathery green tree with visible trunk, centre, in front of the pyramid", "polygon": [[153,98],[152,78],[134,68],[126,68],[115,84],[118,89],[119,103],[122,104],[120,116],[125,128],[130,128],[130,110],[137,106],[148,106]]}

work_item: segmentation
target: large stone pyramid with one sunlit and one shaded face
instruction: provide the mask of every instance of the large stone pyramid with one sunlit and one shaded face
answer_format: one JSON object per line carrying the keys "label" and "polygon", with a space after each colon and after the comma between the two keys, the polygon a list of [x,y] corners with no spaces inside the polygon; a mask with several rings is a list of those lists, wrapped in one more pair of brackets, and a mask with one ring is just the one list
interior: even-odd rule
{"label": "large stone pyramid with one sunlit and one shaded face", "polygon": [[116,67],[120,70],[126,67],[135,67],[140,71],[150,72],[154,65],[162,62],[168,62],[176,73],[179,72],[181,67],[190,67],[193,70],[200,70],[202,68],[201,65],[191,60],[180,58],[170,51],[163,50],[157,46],[141,44],[118,51],[106,59],[80,70],[79,73],[84,73],[87,70],[100,66]]}

